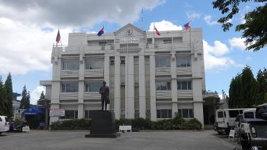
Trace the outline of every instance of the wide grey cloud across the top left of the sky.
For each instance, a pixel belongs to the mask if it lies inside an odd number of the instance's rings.
[[[152,10],[164,0],[0,1],[0,16],[20,22],[57,26],[92,26],[96,22],[124,25],[140,17],[141,8]]]

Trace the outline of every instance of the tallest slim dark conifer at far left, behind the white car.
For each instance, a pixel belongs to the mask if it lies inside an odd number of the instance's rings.
[[[6,88],[6,115],[8,117],[13,116],[13,88],[12,88],[12,79],[11,74],[8,74],[5,82]]]

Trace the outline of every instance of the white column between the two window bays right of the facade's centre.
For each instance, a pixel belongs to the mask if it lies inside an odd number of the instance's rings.
[[[172,55],[170,56],[170,74],[172,74],[172,117],[175,117],[175,113],[178,112],[177,106],[177,67],[176,67],[176,57],[175,51],[172,51]]]

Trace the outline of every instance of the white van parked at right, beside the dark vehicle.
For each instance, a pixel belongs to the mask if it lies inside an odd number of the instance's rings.
[[[234,129],[236,116],[243,114],[243,110],[245,110],[245,108],[216,110],[216,124],[214,130],[219,134],[228,134],[231,129]]]

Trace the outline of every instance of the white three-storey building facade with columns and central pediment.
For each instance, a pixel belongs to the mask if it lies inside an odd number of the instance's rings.
[[[202,124],[205,88],[202,29],[142,31],[132,24],[102,36],[70,33],[67,47],[54,46],[45,98],[65,117],[89,118],[100,110],[99,88],[110,88],[115,118],[197,118]]]

